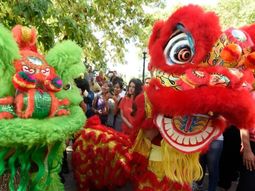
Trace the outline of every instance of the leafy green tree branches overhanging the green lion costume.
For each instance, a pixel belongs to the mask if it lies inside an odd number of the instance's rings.
[[[151,17],[143,6],[157,0],[2,0],[0,19],[8,28],[35,26],[45,51],[57,40],[74,40],[88,61],[105,67],[107,59],[123,61],[124,45],[144,46]],[[109,48],[110,47],[110,48]]]

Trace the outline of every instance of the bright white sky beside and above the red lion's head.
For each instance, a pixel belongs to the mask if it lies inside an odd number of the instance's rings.
[[[171,7],[176,4],[198,4],[198,5],[216,5],[219,0],[166,0],[166,10],[171,10]],[[157,10],[158,11],[158,10]],[[160,10],[159,10],[160,11]],[[127,45],[127,53],[125,55],[125,64],[116,64],[109,65],[108,68],[110,70],[116,70],[118,73],[121,73],[124,79],[128,82],[133,77],[141,77],[142,76],[142,67],[143,67],[143,58],[139,58],[137,52],[139,50],[134,47],[132,44]],[[146,68],[145,71],[148,75],[147,71],[147,63],[148,63],[148,55],[146,59]]]

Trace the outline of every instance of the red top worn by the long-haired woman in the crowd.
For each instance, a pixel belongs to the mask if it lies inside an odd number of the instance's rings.
[[[129,121],[129,123],[131,123],[132,125],[134,125],[134,117],[131,116],[131,112],[132,112],[132,105],[133,105],[133,99],[129,98],[127,96],[125,96],[124,98],[122,98],[119,108],[122,112],[122,115]],[[129,128],[124,121],[122,122],[122,131],[123,133],[127,134],[127,135],[131,135],[134,131],[134,129]]]

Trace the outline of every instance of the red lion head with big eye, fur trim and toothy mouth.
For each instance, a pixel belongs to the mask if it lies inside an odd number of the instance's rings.
[[[249,35],[254,28],[222,32],[213,12],[194,5],[155,23],[149,41],[155,77],[145,94],[170,145],[192,153],[206,148],[226,124],[254,127],[255,54]]]

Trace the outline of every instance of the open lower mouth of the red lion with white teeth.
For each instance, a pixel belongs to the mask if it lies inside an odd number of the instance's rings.
[[[210,116],[207,115],[172,118],[158,115],[155,122],[162,137],[184,153],[202,150],[221,133],[220,128],[212,127]]]

